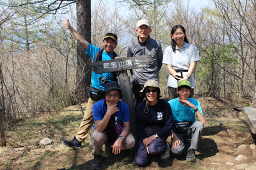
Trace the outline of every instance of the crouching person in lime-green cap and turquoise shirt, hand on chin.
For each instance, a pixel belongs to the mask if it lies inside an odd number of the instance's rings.
[[[198,148],[206,120],[200,103],[189,97],[191,85],[188,80],[179,81],[177,93],[179,94],[178,98],[168,101],[173,115],[171,152],[180,155],[185,149],[184,140],[191,138],[186,160],[196,162],[195,150]],[[199,121],[196,121],[195,115]]]

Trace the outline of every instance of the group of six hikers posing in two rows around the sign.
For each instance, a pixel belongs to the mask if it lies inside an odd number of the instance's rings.
[[[88,43],[73,29],[67,19],[63,20],[63,25],[84,46],[86,54],[90,55],[93,62],[119,57],[114,52],[118,43],[116,34],[106,33],[101,49]],[[138,38],[127,50],[127,57],[152,56],[152,61],[147,67],[130,70],[136,108],[136,130],[140,136],[134,163],[145,166],[148,154],[161,154],[162,160],[169,159],[170,151],[180,155],[185,149],[184,143],[189,142],[189,139],[191,145],[186,160],[195,162],[195,150],[206,122],[200,103],[192,98],[195,89],[193,71],[200,57],[196,47],[188,43],[182,25],[172,28],[172,42],[163,56],[159,41],[150,38],[150,26],[149,20],[142,19],[137,22]],[[170,99],[168,103],[159,99],[159,71],[162,64],[167,64],[170,72],[167,84]],[[116,82],[116,74],[92,72],[91,83],[86,89],[90,98],[77,134],[72,141],[63,141],[63,144],[71,148],[81,148],[81,143],[95,124],[92,134],[92,168],[99,169],[103,145],[106,146],[109,157],[115,157],[121,150],[133,148],[136,141],[130,132],[129,107],[120,101],[122,90]],[[196,116],[199,121],[196,121]],[[172,136],[171,145],[166,141],[168,136]]]

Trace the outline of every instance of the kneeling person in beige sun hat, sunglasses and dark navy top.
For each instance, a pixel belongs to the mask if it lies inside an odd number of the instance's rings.
[[[136,108],[136,127],[140,140],[134,163],[145,166],[148,154],[161,154],[161,159],[170,157],[170,144],[166,141],[172,131],[172,110],[170,104],[160,97],[159,83],[148,80],[140,91],[145,101]]]

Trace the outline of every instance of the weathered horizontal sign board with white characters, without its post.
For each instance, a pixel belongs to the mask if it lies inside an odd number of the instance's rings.
[[[114,60],[104,60],[90,62],[89,67],[97,74],[114,71],[124,71],[127,69],[137,69],[147,67],[152,61],[151,55],[141,55],[137,57],[119,58]]]

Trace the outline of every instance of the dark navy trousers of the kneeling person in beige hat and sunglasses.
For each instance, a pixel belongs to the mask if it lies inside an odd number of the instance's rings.
[[[150,143],[148,146],[148,151],[152,155],[157,155],[163,153],[167,148],[166,138],[157,138]],[[138,142],[137,150],[135,153],[135,158],[133,159],[134,163],[137,166],[145,166],[148,162],[148,152],[146,146],[143,144],[143,141]]]

